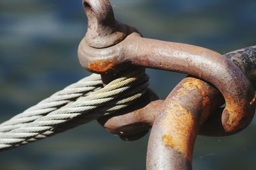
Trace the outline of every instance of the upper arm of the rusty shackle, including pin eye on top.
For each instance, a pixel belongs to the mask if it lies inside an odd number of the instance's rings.
[[[126,25],[123,25],[127,28],[127,36],[122,36],[124,40],[120,41],[122,38],[119,36],[108,38],[105,35],[118,35],[122,32],[115,28],[120,23],[115,22],[109,1],[84,2],[85,12],[89,17],[88,33],[78,50],[79,61],[84,68],[104,73],[116,65],[131,63],[136,66],[188,73],[211,82],[221,91],[226,102],[221,118],[226,132],[237,132],[252,120],[255,107],[254,102],[250,104],[254,98],[252,84],[230,60],[217,52],[195,45],[142,38],[136,29]],[[90,40],[102,41],[107,45],[93,46]]]

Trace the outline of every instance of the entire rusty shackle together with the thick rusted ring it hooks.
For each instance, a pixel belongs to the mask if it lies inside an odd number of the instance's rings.
[[[132,107],[98,119],[124,140],[152,127],[147,169],[192,169],[196,135],[231,135],[255,112],[256,47],[225,54],[203,47],[143,38],[115,20],[108,0],[83,0],[88,31],[78,49],[81,65],[104,84],[129,66],[187,73],[165,100],[148,89]],[[222,104],[225,108],[220,108]]]

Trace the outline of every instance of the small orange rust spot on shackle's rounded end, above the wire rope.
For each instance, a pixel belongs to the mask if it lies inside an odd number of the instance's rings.
[[[102,59],[99,61],[93,61],[92,63],[89,63],[88,68],[95,72],[106,72],[110,68],[113,68],[113,66],[115,65],[116,65],[116,61],[112,61],[109,59]]]

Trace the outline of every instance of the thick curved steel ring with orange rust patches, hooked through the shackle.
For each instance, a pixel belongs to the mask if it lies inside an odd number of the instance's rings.
[[[255,73],[252,65],[256,61],[255,47],[226,56],[237,61],[236,64],[244,68],[248,77]],[[148,141],[147,169],[192,169],[193,147],[200,128],[205,130],[208,126],[210,129],[206,134],[214,128],[225,134],[224,130],[216,127],[220,123],[202,127],[211,112],[223,102],[220,93],[210,84],[192,77],[182,80],[164,100],[163,108],[154,121]],[[218,118],[220,114],[215,115]]]

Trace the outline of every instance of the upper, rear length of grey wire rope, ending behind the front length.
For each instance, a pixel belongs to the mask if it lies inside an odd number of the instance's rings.
[[[85,77],[84,79],[67,86],[67,88],[54,93],[51,97],[45,98],[38,104],[29,107],[26,111],[13,116],[10,120],[1,123],[0,132],[8,132],[15,128],[19,128],[26,123],[35,121],[49,112],[55,111],[63,105],[77,100],[77,98],[82,97],[99,87],[102,87],[100,75],[92,74]]]

